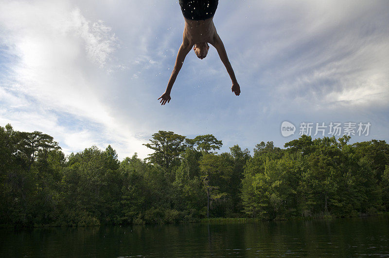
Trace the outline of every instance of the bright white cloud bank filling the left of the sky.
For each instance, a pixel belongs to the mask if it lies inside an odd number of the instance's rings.
[[[110,113],[106,96],[106,69],[118,39],[103,21],[90,21],[65,1],[14,1],[0,4],[1,45],[6,55],[17,56],[0,87],[1,120],[19,130],[42,130],[65,149],[79,151],[96,144],[118,145],[119,155],[138,151],[140,140]],[[11,78],[11,79],[10,79]],[[61,125],[58,116],[71,114],[83,120],[81,131]],[[98,123],[99,131],[88,129]],[[85,129],[86,128],[86,129]],[[113,144],[114,145],[114,144]]]

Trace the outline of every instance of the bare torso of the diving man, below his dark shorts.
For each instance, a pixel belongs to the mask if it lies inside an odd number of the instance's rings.
[[[183,42],[193,46],[196,43],[213,43],[216,28],[213,24],[213,17],[206,20],[185,19]]]

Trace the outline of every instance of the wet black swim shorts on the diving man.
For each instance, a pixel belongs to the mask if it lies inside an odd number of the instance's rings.
[[[179,0],[182,14],[188,20],[206,20],[215,14],[218,0]]]

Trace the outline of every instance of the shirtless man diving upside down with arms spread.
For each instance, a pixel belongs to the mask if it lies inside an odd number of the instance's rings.
[[[217,50],[221,61],[230,75],[232,81],[231,90],[236,96],[239,96],[239,84],[236,81],[234,71],[228,60],[223,41],[217,34],[215,25],[213,24],[213,15],[215,14],[217,4],[218,0],[179,0],[179,5],[181,6],[181,11],[185,19],[184,33],[182,36],[182,44],[177,53],[176,64],[170,75],[166,91],[158,98],[158,100],[161,99],[159,102],[161,105],[170,102],[170,91],[184,63],[185,56],[191,51],[192,46],[197,57],[203,59],[207,56],[210,48],[208,43]]]

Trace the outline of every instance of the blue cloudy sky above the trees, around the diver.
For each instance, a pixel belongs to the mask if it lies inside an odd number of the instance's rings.
[[[161,106],[184,28],[176,0],[0,0],[0,126],[49,134],[65,154],[110,144],[119,159],[145,158],[159,130],[213,134],[219,153],[283,147],[304,123],[313,138],[333,122],[355,127],[351,142],[389,141],[389,1],[220,0],[213,22],[240,96],[211,46],[187,55]]]

